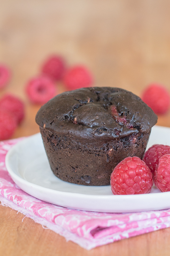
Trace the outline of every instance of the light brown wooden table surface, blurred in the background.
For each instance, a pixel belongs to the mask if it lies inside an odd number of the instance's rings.
[[[13,138],[39,131],[40,106],[24,92],[50,53],[68,66],[83,63],[95,85],[117,86],[141,95],[151,82],[170,91],[170,1],[168,0],[0,0],[0,62],[13,77],[0,96],[11,92],[26,104],[26,118]],[[65,90],[58,84],[59,92]],[[158,117],[170,126],[170,112]],[[0,255],[77,256],[170,255],[170,228],[86,251],[11,208],[0,206]]]

